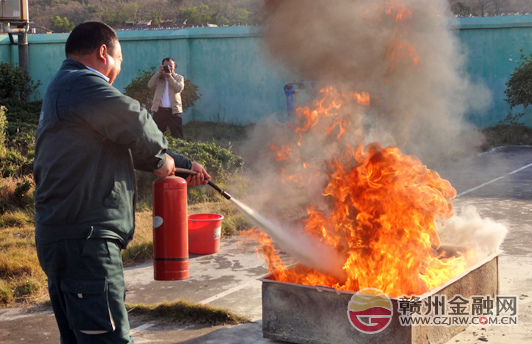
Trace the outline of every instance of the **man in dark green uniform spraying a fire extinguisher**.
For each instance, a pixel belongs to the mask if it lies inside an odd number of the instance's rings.
[[[159,177],[200,164],[167,154],[140,104],[111,86],[122,51],[107,25],[78,25],[42,105],[34,161],[35,242],[62,344],[132,343],[121,249],[135,228],[133,166]]]

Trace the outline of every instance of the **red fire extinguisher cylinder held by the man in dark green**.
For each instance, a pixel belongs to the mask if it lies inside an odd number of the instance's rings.
[[[153,182],[153,268],[155,280],[188,279],[187,183],[180,177]]]

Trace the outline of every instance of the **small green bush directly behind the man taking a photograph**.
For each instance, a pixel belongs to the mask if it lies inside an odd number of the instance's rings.
[[[155,93],[155,90],[148,88],[148,81],[150,81],[156,70],[157,67],[151,67],[148,70],[139,70],[135,79],[124,88],[124,94],[126,96],[138,100],[148,111],[151,109],[153,94]],[[185,88],[181,92],[183,112],[193,106],[200,97],[201,94],[198,93],[198,86],[191,83],[190,80],[185,80]]]

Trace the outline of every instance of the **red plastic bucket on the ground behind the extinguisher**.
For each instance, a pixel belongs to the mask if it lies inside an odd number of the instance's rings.
[[[211,254],[220,249],[223,215],[193,214],[188,216],[188,251]]]

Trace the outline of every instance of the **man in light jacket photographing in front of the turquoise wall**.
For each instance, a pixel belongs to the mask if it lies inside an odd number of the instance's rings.
[[[183,138],[183,118],[181,113],[181,91],[185,87],[185,79],[174,72],[175,61],[166,57],[157,72],[148,81],[149,88],[155,88],[151,111],[157,127],[163,133],[170,128],[173,137]]]

